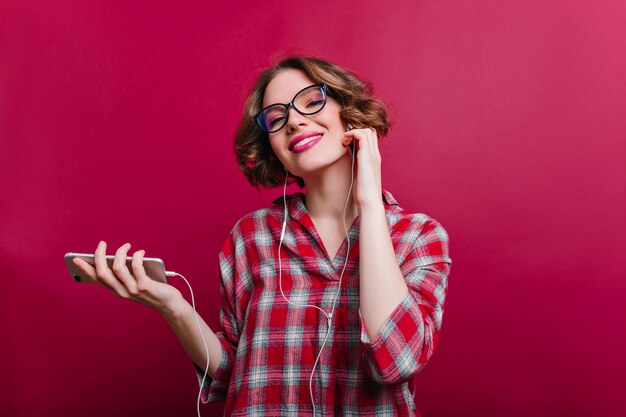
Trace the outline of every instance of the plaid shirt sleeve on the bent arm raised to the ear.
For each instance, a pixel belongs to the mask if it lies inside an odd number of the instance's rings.
[[[441,329],[452,264],[448,252],[445,229],[426,217],[412,250],[399,260],[409,293],[383,323],[376,339],[370,340],[361,319],[363,367],[376,382],[407,381],[432,356]]]

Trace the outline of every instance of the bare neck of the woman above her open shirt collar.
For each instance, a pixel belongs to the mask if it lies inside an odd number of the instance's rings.
[[[336,219],[343,221],[343,211],[346,206],[346,197],[350,190],[350,171],[352,170],[352,155],[346,152],[346,157],[324,169],[322,173],[304,179],[306,184],[305,206],[309,215],[314,219]],[[354,173],[356,177],[356,173]],[[354,202],[354,185],[346,207],[348,224],[358,216],[358,207]]]

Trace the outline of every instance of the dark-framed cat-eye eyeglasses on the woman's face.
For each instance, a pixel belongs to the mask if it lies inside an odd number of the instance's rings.
[[[261,129],[267,133],[278,132],[287,124],[289,118],[289,108],[303,116],[311,116],[320,112],[326,105],[326,84],[318,83],[303,88],[298,91],[290,103],[270,104],[254,116]]]

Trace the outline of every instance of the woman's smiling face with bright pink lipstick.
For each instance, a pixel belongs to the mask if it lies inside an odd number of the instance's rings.
[[[265,89],[263,107],[274,103],[289,103],[303,88],[315,82],[299,70],[287,69],[276,75]],[[274,153],[293,175],[308,177],[320,175],[348,155],[341,141],[346,131],[339,111],[341,106],[327,96],[326,105],[316,114],[304,116],[289,109],[285,126],[269,133]]]

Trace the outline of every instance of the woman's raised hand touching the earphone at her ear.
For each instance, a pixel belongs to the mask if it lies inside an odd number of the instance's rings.
[[[353,196],[359,209],[382,205],[381,157],[378,135],[371,128],[353,129],[345,133],[343,146],[356,146]]]

